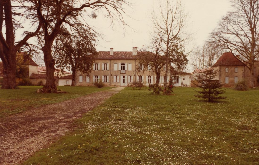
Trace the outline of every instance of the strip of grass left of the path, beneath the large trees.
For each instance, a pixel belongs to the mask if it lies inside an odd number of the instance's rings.
[[[42,86],[19,86],[20,89],[0,89],[0,118],[26,111],[30,108],[53,104],[74,99],[93,92],[103,91],[112,87],[71,87],[61,86],[62,91],[69,93],[36,93]]]

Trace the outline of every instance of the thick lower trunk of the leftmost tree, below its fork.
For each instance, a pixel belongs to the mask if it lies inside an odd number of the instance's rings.
[[[10,53],[10,58],[8,59],[8,64],[3,63],[4,70],[4,79],[2,89],[15,89],[17,88],[16,85],[16,52]]]

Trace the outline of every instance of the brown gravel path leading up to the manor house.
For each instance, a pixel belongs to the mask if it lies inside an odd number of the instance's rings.
[[[0,121],[0,164],[18,164],[73,130],[75,119],[124,87],[30,109]]]

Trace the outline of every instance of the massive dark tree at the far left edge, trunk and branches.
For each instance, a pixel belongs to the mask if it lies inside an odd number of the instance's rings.
[[[15,5],[11,5],[11,2],[15,3]],[[4,89],[17,88],[15,80],[16,53],[22,46],[27,44],[26,42],[29,38],[35,36],[40,31],[40,26],[33,32],[24,31],[23,34],[25,36],[20,41],[15,41],[15,31],[23,28],[22,23],[24,19],[31,18],[32,12],[28,10],[31,8],[30,4],[25,5],[23,1],[0,1],[0,58],[3,61],[4,67],[2,85]],[[37,25],[37,22],[31,22],[31,25]],[[3,32],[4,29],[5,32]]]

